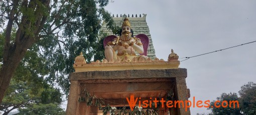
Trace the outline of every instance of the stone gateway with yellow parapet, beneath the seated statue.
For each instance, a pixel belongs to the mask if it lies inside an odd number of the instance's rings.
[[[190,97],[186,85],[187,69],[179,68],[179,64],[178,55],[173,50],[168,61],[135,58],[130,62],[108,62],[104,59],[86,63],[81,53],[73,65],[75,72],[70,74],[66,114],[96,115],[103,114],[104,111],[110,114],[110,108],[116,110],[116,113],[123,108],[130,111],[132,97],[138,97],[138,101],[134,103],[134,111],[139,110],[139,101],[142,104],[140,111],[147,112],[153,108],[149,106],[150,102],[146,106],[143,101],[153,102],[155,98],[163,98],[166,102],[163,102],[164,107],[160,104],[156,110],[158,114],[190,114],[185,103],[167,105],[167,101],[185,102]]]

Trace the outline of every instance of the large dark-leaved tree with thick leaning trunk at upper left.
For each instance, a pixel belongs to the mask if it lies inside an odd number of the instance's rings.
[[[5,28],[4,49],[0,55],[0,103],[15,70],[28,50],[42,57],[48,83],[69,91],[68,73],[76,55],[83,51],[87,61],[97,51],[98,30],[104,19],[117,30],[110,14],[103,8],[108,0],[2,0],[0,26]],[[12,30],[15,31],[12,38]],[[100,56],[99,56],[100,57]],[[30,59],[30,57],[28,57]],[[26,64],[26,63],[25,63]],[[43,70],[43,69],[42,69]],[[37,71],[37,69],[33,69]],[[36,73],[36,72],[33,72]]]

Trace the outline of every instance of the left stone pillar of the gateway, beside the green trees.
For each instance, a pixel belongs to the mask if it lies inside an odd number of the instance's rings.
[[[70,91],[68,95],[68,104],[67,104],[67,110],[66,114],[67,115],[73,115],[73,114],[78,114],[77,109],[79,108],[79,103],[78,103],[78,94],[80,90],[79,82],[78,80],[71,80],[70,81]]]

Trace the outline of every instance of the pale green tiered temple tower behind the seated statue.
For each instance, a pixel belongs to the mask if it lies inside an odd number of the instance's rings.
[[[148,35],[149,37],[149,47],[148,47],[148,54],[147,56],[148,57],[151,57],[152,59],[156,58],[156,51],[155,51],[155,48],[154,48],[154,45],[153,45],[153,41],[152,41],[152,38],[151,38],[151,34],[150,34],[150,29],[149,29],[149,26],[148,26],[148,23],[146,21],[146,16],[147,14],[120,14],[118,16],[118,14],[116,14],[116,16],[112,16],[114,22],[116,25],[118,26],[121,26],[122,25],[122,22],[123,22],[123,19],[125,17],[129,18],[130,22],[131,22],[131,28],[134,30],[134,36],[138,35],[138,34],[146,34]],[[109,35],[113,34],[111,30],[107,29],[107,26],[106,26],[106,22],[103,22],[102,23],[102,28],[101,30],[103,32],[106,32],[108,33]],[[137,53],[137,55],[139,55],[139,53]]]

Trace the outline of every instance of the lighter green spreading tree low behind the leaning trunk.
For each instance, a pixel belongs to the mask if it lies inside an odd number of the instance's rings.
[[[37,114],[36,111],[41,114],[49,114],[50,111],[54,114],[64,114],[60,107],[62,102],[60,91],[49,84],[37,85],[12,79],[1,103],[0,110],[4,111],[3,114],[8,114],[16,108],[19,108],[22,114]]]

